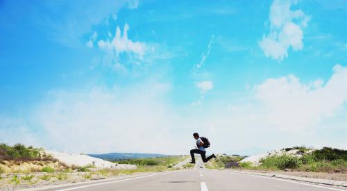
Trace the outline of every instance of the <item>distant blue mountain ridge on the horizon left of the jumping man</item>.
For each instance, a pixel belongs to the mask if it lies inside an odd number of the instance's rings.
[[[167,156],[164,154],[153,153],[104,153],[104,154],[87,154],[95,158],[101,158],[103,160],[124,160],[129,158],[153,158],[160,156]]]

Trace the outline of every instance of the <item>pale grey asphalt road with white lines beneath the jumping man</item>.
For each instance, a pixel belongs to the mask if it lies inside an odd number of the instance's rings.
[[[328,185],[203,169],[199,165],[201,163],[198,163],[194,169],[184,171],[147,174],[102,183],[70,185],[49,190],[347,190],[346,188]]]

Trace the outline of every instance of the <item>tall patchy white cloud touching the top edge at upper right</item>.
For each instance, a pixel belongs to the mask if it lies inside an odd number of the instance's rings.
[[[288,56],[288,49],[303,49],[303,28],[310,17],[301,10],[291,10],[296,1],[273,1],[270,8],[270,33],[263,35],[259,42],[266,57],[283,60]]]

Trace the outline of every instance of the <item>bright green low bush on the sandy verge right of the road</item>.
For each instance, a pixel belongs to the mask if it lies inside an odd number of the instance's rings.
[[[268,156],[260,160],[262,167],[269,169],[295,169],[302,165],[300,158],[289,155]]]

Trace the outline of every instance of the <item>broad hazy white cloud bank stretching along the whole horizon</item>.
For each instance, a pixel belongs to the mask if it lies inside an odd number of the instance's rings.
[[[197,131],[208,136],[208,151],[216,153],[230,153],[225,140],[234,150],[301,144],[346,149],[346,73],[346,67],[335,65],[325,82],[269,78],[247,90],[242,101],[219,99],[200,108],[170,105],[170,84],[155,79],[128,88],[53,91],[22,115],[26,119],[0,115],[0,142],[77,153],[183,154],[194,147]],[[201,88],[212,90],[213,84]]]

